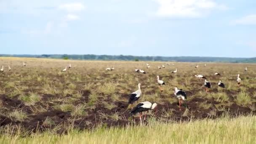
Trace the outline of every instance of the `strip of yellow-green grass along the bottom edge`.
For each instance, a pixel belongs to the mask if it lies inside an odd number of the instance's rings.
[[[70,130],[67,135],[50,132],[29,137],[0,136],[0,144],[255,144],[256,116],[217,120],[196,120],[187,123],[157,123],[126,128],[98,128],[95,131]]]

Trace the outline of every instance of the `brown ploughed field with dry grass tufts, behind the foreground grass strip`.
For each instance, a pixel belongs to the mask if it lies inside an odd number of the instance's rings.
[[[23,61],[26,61],[26,67],[23,66]],[[215,119],[227,113],[233,117],[256,112],[255,64],[207,63],[203,67],[205,63],[199,63],[199,68],[196,69],[197,63],[173,63],[175,66],[172,63],[168,66],[167,62],[148,63],[149,69],[146,69],[146,62],[142,61],[0,58],[0,66],[4,65],[5,68],[0,73],[1,133],[67,133],[70,126],[83,130],[99,125],[137,125],[137,115],[129,117],[131,107],[127,102],[129,94],[138,89],[138,83],[142,87],[139,102],[151,101],[158,104],[156,112],[148,112],[144,125],[150,125],[152,121],[167,122],[165,125],[170,126],[170,131],[173,131],[173,125],[180,126],[168,122]],[[72,68],[61,72],[69,64],[72,64]],[[158,69],[157,66],[162,64],[165,64],[165,69]],[[12,68],[11,71],[8,71],[8,65]],[[115,70],[106,71],[106,67],[112,66],[115,66]],[[244,72],[245,67],[248,67],[248,72]],[[178,72],[171,74],[175,68]],[[134,69],[143,69],[147,74],[136,73]],[[219,72],[221,76],[214,76],[215,72]],[[210,92],[205,93],[204,81],[195,77],[198,74],[204,75],[211,82],[213,88]],[[240,87],[236,84],[237,74],[242,79]],[[157,75],[166,83],[162,94],[157,85]],[[219,80],[225,83],[226,89],[218,88]],[[173,94],[175,86],[186,91],[188,97],[181,111],[179,101]],[[243,119],[251,121],[254,125],[252,131],[255,131],[255,117],[239,119],[239,123]],[[199,121],[195,123],[200,125]],[[223,123],[228,122],[224,120]],[[157,127],[165,125],[157,124]],[[192,125],[188,123],[187,126]],[[136,128],[131,131],[135,130]],[[123,129],[114,128],[112,131]],[[99,133],[90,134],[96,138]],[[72,140],[76,142],[79,141],[78,138]],[[66,138],[64,136],[61,139],[65,141]],[[211,138],[209,140],[213,141]]]

